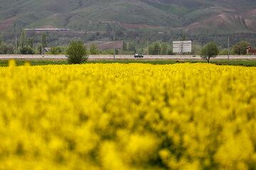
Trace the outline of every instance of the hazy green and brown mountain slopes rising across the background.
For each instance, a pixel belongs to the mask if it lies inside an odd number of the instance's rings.
[[[0,31],[14,23],[81,30],[113,21],[127,28],[178,28],[191,34],[256,31],[255,0],[0,0],[0,4]]]

